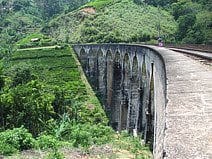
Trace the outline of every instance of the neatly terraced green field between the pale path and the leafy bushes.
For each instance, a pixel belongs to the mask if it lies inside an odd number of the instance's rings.
[[[82,86],[76,82],[81,75],[70,48],[19,50],[13,54],[11,65],[22,63],[32,67],[32,72],[47,84],[65,85],[72,82],[73,85]]]

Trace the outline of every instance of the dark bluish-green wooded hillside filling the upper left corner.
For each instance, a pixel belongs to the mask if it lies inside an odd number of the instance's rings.
[[[0,0],[0,58],[17,41],[39,33],[53,17],[70,12],[87,0]]]

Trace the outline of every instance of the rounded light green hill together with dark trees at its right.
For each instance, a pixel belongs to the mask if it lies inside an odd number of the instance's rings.
[[[191,0],[94,0],[53,19],[42,31],[69,43],[153,42],[211,44],[211,3]],[[82,8],[83,8],[82,7]],[[67,27],[68,26],[68,27]]]

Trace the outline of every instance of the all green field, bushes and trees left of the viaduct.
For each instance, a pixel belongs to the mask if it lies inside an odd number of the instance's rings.
[[[0,155],[40,149],[44,158],[64,158],[63,147],[77,147],[88,155],[90,147],[103,144],[140,154],[133,137],[117,139],[107,126],[108,119],[82,78],[75,56],[69,47],[13,53],[1,73],[5,85],[0,91]],[[131,149],[120,147],[121,142]],[[142,153],[151,158],[143,146]]]

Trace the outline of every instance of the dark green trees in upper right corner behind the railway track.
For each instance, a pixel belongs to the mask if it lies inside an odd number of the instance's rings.
[[[212,44],[212,3],[181,0],[172,4],[172,14],[178,22],[176,40],[192,44]]]

